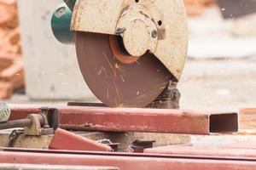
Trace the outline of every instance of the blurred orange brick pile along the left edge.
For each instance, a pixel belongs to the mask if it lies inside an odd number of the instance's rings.
[[[24,88],[16,0],[0,0],[0,99]]]

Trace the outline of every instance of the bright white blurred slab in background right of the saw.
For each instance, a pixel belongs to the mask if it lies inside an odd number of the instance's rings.
[[[189,57],[241,59],[255,56],[255,20],[256,15],[249,19],[224,20],[217,7],[207,9],[201,17],[190,18]]]

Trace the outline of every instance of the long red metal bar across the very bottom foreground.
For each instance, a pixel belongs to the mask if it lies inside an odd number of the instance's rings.
[[[9,151],[8,151],[9,150]],[[175,156],[108,152],[65,152],[47,150],[10,150],[0,152],[0,162],[49,165],[110,166],[119,169],[255,169],[255,157]]]

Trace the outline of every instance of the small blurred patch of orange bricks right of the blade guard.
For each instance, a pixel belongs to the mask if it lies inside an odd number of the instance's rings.
[[[189,16],[199,16],[203,14],[206,8],[217,0],[183,0]]]

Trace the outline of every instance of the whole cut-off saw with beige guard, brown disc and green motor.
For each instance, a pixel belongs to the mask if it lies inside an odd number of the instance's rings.
[[[181,78],[183,0],[65,0],[51,26],[60,42],[74,43],[84,80],[105,105],[144,107]]]

